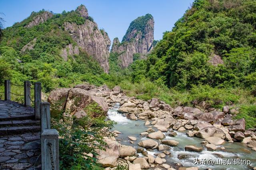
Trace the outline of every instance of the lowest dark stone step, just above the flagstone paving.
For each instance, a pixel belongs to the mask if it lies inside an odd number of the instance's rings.
[[[40,125],[37,126],[14,126],[14,127],[0,127],[0,136],[17,135],[22,133],[35,133],[41,131]]]

